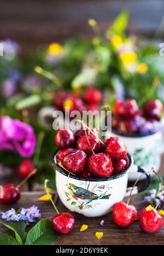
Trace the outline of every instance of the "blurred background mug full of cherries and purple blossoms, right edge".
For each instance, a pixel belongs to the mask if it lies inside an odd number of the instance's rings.
[[[149,100],[142,109],[139,109],[134,99],[118,100],[113,107],[112,136],[124,140],[134,164],[148,170],[154,167],[158,171],[160,168],[162,114],[163,105],[157,99]],[[138,177],[139,174],[133,172],[128,176],[132,181]]]

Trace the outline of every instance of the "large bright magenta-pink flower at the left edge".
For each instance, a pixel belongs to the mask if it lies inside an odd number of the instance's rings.
[[[0,120],[0,150],[18,152],[22,157],[31,157],[36,146],[33,128],[9,116]]]

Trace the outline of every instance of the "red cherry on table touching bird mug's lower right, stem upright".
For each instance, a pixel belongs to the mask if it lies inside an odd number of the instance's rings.
[[[137,209],[125,202],[115,203],[113,207],[113,219],[119,226],[129,226],[137,219]]]

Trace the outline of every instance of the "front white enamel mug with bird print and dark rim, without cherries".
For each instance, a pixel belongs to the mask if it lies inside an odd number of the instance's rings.
[[[112,211],[116,202],[128,196],[132,187],[127,188],[128,173],[133,167],[133,158],[127,155],[128,167],[119,175],[107,178],[87,179],[70,174],[56,164],[56,155],[52,164],[56,169],[56,189],[62,203],[72,212],[86,217],[99,217]],[[147,177],[144,184],[134,187],[132,195],[147,189],[150,175],[147,170],[136,166],[136,172],[144,173]],[[141,175],[141,174],[140,174]]]

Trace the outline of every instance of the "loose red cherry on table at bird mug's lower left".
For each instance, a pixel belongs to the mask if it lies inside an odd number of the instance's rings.
[[[67,235],[74,229],[75,219],[71,213],[60,213],[52,218],[53,229],[61,234]]]

